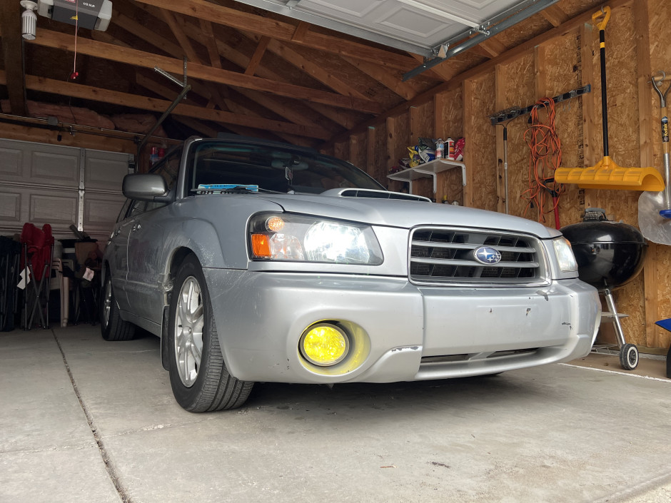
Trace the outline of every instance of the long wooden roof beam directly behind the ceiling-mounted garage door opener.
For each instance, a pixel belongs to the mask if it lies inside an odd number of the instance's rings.
[[[56,31],[38,30],[37,39],[31,44],[39,46],[54,47],[64,51],[74,51],[74,40],[71,36],[60,34]],[[79,39],[77,44],[79,54],[87,54],[102,59],[128,63],[133,66],[143,68],[153,68],[159,66],[165,71],[173,72],[178,75],[183,73],[183,61],[179,61],[166,56],[158,56],[137,49],[128,49],[91,39]],[[201,78],[206,81],[223,83],[228,86],[252,89],[253,91],[265,91],[278,96],[286,96],[306,101],[315,101],[326,105],[340,108],[350,108],[366,113],[380,113],[382,106],[380,103],[370,100],[351,98],[350,96],[341,96],[335,93],[320,91],[318,89],[296,86],[290,83],[270,81],[266,78],[255,77],[237,73],[234,71],[222,70],[205,66],[198,63],[191,63],[188,66],[188,76],[192,78]]]

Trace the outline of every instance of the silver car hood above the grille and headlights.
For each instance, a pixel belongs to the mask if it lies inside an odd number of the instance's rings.
[[[560,235],[558,230],[526,218],[420,200],[344,197],[331,194],[259,194],[259,197],[281,205],[290,213],[306,213],[370,225],[398,228],[413,228],[417,225],[458,225],[517,231],[537,235],[539,238],[554,238]]]

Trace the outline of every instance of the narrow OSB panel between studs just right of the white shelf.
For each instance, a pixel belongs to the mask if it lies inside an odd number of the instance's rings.
[[[470,148],[473,166],[466,166],[473,173],[473,205],[475,208],[496,210],[496,134],[489,116],[494,110],[495,76],[485,73],[473,79],[473,116],[464,118],[473,121],[473,136],[466,138],[465,148]]]

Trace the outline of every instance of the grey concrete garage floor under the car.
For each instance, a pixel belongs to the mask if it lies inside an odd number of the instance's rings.
[[[158,339],[0,334],[1,502],[668,502],[671,381],[547,365],[174,402]],[[88,418],[88,419],[87,419]]]

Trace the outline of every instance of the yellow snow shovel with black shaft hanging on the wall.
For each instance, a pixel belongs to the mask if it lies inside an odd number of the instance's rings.
[[[597,22],[600,17],[603,19]],[[606,95],[605,29],[610,19],[610,7],[592,14],[592,23],[599,29],[601,62],[601,114],[603,124],[603,158],[591,168],[557,168],[556,183],[577,183],[580,188],[618,190],[664,190],[664,179],[655,168],[621,168],[608,156],[608,106]]]

